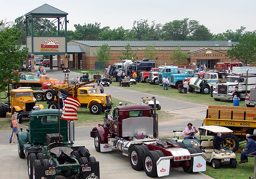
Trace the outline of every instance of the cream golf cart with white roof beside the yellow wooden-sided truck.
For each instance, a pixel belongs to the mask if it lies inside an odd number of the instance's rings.
[[[208,141],[208,139],[201,140],[201,136],[216,136],[218,132],[230,133],[233,132],[229,128],[222,126],[201,126],[199,128],[200,132],[200,149],[206,157],[206,162],[211,163],[213,168],[220,168],[221,165],[229,165],[231,168],[237,166],[235,153],[230,151],[221,152],[221,150],[214,149],[213,140]]]

